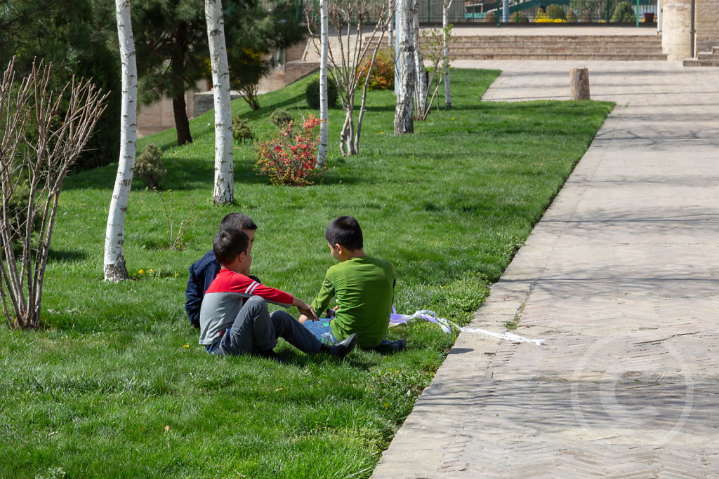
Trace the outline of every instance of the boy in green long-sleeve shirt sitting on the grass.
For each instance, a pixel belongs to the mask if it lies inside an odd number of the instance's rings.
[[[324,232],[327,246],[339,261],[325,274],[322,287],[312,302],[315,311],[324,312],[336,297],[336,316],[329,326],[306,322],[309,330],[321,336],[331,332],[331,340],[343,340],[357,333],[360,348],[377,348],[383,343],[390,322],[390,310],[394,299],[395,268],[382,259],[365,254],[362,228],[352,216],[340,216],[331,220]],[[401,349],[403,340],[395,342],[391,349]]]

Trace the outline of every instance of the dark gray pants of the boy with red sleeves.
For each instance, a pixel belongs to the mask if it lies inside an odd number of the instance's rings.
[[[277,338],[283,338],[298,350],[308,354],[319,352],[322,343],[298,320],[284,311],[267,310],[267,302],[259,296],[247,299],[239,310],[232,327],[212,348],[213,354],[260,353],[275,348]]]

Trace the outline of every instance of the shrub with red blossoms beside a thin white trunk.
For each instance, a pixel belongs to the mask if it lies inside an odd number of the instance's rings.
[[[285,124],[278,134],[255,143],[256,169],[270,178],[273,185],[311,185],[308,178],[315,170],[319,118],[308,116],[303,123]]]

